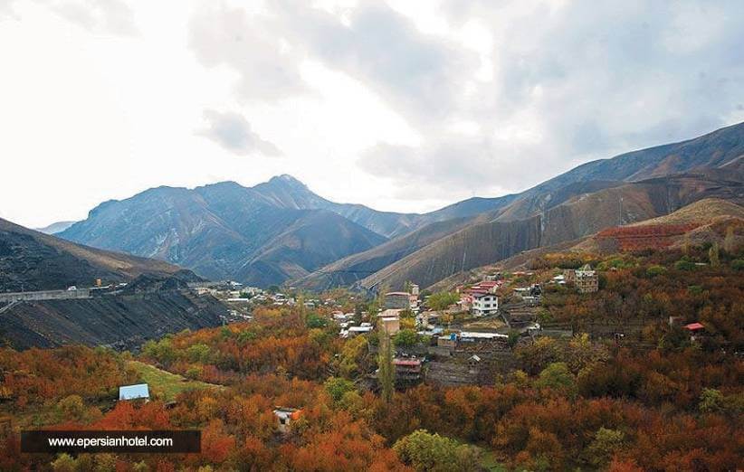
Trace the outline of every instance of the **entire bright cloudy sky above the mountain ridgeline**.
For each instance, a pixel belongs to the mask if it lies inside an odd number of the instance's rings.
[[[744,2],[0,0],[0,217],[290,174],[427,212],[744,121]]]

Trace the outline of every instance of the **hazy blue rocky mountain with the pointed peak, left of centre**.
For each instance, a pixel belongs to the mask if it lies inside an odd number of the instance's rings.
[[[386,241],[334,212],[299,208],[313,195],[292,194],[299,186],[306,188],[279,177],[253,189],[233,182],[158,187],[100,204],[61,236],[262,286]]]

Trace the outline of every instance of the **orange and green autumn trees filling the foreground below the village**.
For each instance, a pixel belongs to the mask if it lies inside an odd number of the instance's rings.
[[[493,385],[396,391],[391,339],[340,339],[322,309],[260,307],[249,323],[150,342],[137,361],[79,346],[0,349],[0,415],[16,431],[203,432],[199,455],[141,457],[21,455],[9,435],[0,470],[735,470],[744,279],[740,253],[697,266],[710,249],[600,260],[615,269],[599,292],[546,290],[541,319],[586,334],[511,335],[518,370]],[[681,260],[694,270],[675,268]],[[691,322],[705,326],[695,341],[681,327]],[[363,387],[376,369],[378,393]],[[116,402],[135,382],[150,383],[154,401]],[[301,411],[287,435],[277,405]]]

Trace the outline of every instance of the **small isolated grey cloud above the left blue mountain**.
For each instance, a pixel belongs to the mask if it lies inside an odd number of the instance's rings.
[[[279,148],[253,132],[251,124],[239,113],[205,109],[204,118],[207,127],[198,134],[238,156],[281,156]]]

